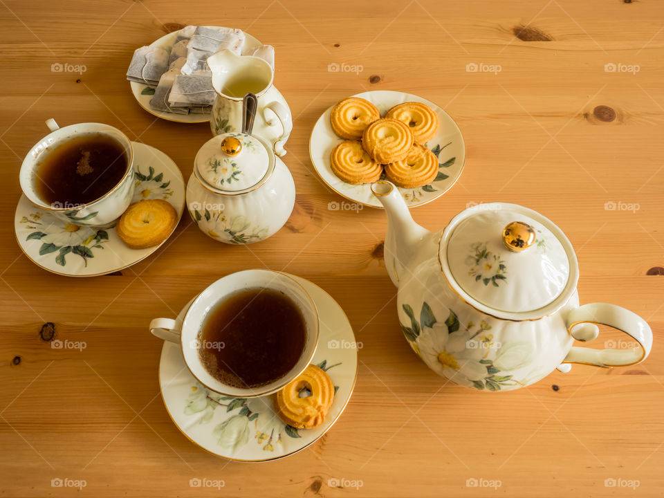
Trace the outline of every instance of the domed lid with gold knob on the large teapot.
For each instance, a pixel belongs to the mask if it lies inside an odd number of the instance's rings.
[[[578,267],[569,239],[544,216],[519,205],[486,203],[463,211],[445,228],[440,251],[452,288],[497,317],[548,315],[576,288]],[[519,317],[508,315],[514,313]]]

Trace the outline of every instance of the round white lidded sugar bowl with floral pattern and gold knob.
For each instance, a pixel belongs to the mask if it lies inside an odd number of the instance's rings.
[[[288,167],[267,142],[223,133],[205,142],[187,183],[187,209],[212,239],[247,244],[284,226],[295,204]]]

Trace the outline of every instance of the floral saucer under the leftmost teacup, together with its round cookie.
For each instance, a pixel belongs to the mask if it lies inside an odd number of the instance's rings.
[[[95,277],[138,263],[171,236],[185,208],[180,169],[154,147],[138,142],[132,147],[133,198],[110,228],[66,223],[21,196],[14,226],[28,259],[57,275]]]

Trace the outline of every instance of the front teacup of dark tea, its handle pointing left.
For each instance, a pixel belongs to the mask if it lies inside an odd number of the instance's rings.
[[[285,273],[246,270],[206,288],[182,322],[156,318],[150,331],[178,342],[193,376],[226,396],[265,396],[302,374],[318,343],[311,297]]]

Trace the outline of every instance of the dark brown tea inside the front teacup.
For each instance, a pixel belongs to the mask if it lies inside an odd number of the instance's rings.
[[[290,297],[252,288],[210,310],[199,335],[199,358],[219,382],[260,387],[295,367],[305,338],[304,317]]]

